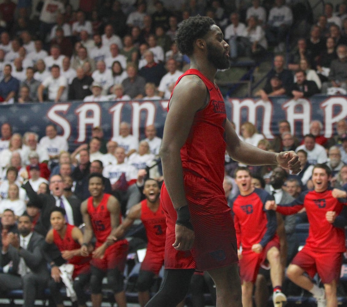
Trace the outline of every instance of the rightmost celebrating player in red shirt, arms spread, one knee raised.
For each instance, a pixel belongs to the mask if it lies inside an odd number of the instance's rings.
[[[292,203],[276,205],[266,202],[265,208],[289,215],[306,208],[310,229],[304,248],[299,251],[287,269],[288,278],[298,286],[310,291],[317,300],[318,307],[337,307],[337,283],[340,278],[342,253],[345,247],[345,229],[334,227],[329,214],[336,215],[346,205],[346,192],[329,189],[331,170],[326,164],[316,164],[312,171],[312,191],[302,192]],[[319,288],[304,275],[311,278],[318,273],[324,284]]]

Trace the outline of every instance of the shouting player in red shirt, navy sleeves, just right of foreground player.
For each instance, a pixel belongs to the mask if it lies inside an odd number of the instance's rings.
[[[237,248],[242,282],[242,304],[253,306],[253,285],[260,265],[267,259],[273,287],[273,305],[282,307],[287,301],[282,293],[283,270],[280,259],[280,240],[276,234],[276,213],[265,210],[265,203],[272,200],[268,192],[252,187],[251,172],[246,167],[235,170],[235,181],[240,193],[232,199]],[[240,252],[242,246],[242,252]]]

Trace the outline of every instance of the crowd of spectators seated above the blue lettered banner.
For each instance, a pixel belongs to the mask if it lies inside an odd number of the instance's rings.
[[[344,3],[337,5],[336,12],[325,3],[323,14],[312,20],[310,33],[298,37],[294,29],[299,17],[293,15],[298,8],[284,0],[274,1],[273,6],[263,3],[264,7],[260,0],[253,0],[249,7],[222,0],[182,0],[179,5],[123,2],[80,3],[76,10],[69,1],[60,0],[2,3],[1,103],[168,99],[177,75],[189,67],[189,59],[177,49],[175,33],[181,20],[196,14],[210,16],[220,26],[232,60],[240,56],[261,59],[270,52],[284,54],[282,67],[275,56],[274,71],[263,92],[255,95],[264,99],[285,94],[298,99],[346,92]],[[305,10],[312,14],[310,8]],[[295,44],[292,48],[288,37]],[[274,90],[270,84],[273,76],[282,82]],[[101,88],[100,94],[93,93],[93,82]],[[149,83],[155,85],[151,95],[145,90]]]

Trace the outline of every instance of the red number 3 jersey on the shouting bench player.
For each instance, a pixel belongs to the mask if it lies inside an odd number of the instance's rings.
[[[146,229],[147,249],[163,249],[166,239],[166,222],[161,204],[159,204],[158,210],[153,212],[147,206],[147,200],[144,199],[141,202],[141,220]]]

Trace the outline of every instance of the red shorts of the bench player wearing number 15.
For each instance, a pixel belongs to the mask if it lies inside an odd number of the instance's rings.
[[[102,243],[96,242],[95,248],[101,245]],[[101,259],[93,258],[90,264],[103,271],[118,268],[120,272],[123,272],[128,255],[128,248],[129,243],[127,240],[117,241],[105,250],[105,254]]]

